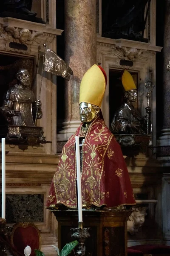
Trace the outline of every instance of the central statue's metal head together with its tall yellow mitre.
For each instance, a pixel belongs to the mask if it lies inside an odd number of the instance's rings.
[[[83,76],[79,97],[81,122],[92,122],[99,115],[106,84],[107,76],[105,70],[96,64]]]

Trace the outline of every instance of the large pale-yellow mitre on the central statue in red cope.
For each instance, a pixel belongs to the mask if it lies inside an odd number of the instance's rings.
[[[94,64],[82,78],[79,103],[86,102],[101,107],[106,81],[105,70]]]

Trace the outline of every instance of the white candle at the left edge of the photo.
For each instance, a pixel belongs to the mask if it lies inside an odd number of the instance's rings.
[[[2,151],[2,218],[5,219],[6,210],[6,166],[5,166],[5,138],[1,141],[1,151]]]

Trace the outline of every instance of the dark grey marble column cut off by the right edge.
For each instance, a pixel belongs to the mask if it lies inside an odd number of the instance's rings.
[[[164,44],[163,44],[163,82],[162,82],[162,129],[157,140],[157,155],[164,160],[165,166],[170,166],[170,0],[164,1]],[[159,100],[159,99],[158,99]]]

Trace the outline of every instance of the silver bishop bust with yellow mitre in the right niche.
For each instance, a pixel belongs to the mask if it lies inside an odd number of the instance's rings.
[[[146,116],[141,117],[134,108],[133,102],[137,97],[136,85],[131,74],[124,70],[122,84],[125,89],[124,103],[118,108],[111,123],[114,134],[150,134],[152,125],[150,120],[151,108],[147,104]]]

